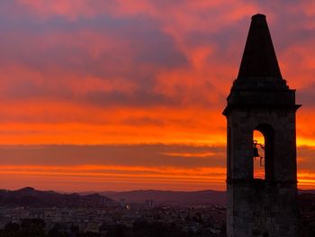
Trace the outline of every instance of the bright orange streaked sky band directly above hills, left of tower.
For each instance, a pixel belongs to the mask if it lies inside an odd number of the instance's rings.
[[[11,179],[13,183],[6,188],[33,185],[43,188],[41,182],[49,183],[50,188],[66,188],[64,190],[126,190],[132,187],[142,187],[146,184],[149,188],[160,188],[161,186],[175,185],[177,190],[198,190],[210,184],[216,184],[220,189],[225,188],[222,180],[225,177],[225,169],[177,169],[177,168],[145,168],[145,167],[30,167],[30,166],[1,166],[0,177],[3,180]],[[40,178],[40,182],[36,181]],[[56,180],[58,186],[51,187],[52,180]],[[11,181],[11,182],[12,182]],[[64,182],[65,186],[60,187],[59,182]],[[73,186],[67,187],[68,182]],[[80,185],[81,183],[81,185]],[[102,185],[100,185],[102,184]],[[112,185],[117,185],[112,188]],[[131,185],[131,186],[130,186]],[[4,187],[5,188],[5,187]],[[47,188],[47,187],[44,187]]]

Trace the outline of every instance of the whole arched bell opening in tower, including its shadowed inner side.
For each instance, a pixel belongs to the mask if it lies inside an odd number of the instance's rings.
[[[274,129],[259,124],[253,132],[253,178],[272,180],[274,178]]]

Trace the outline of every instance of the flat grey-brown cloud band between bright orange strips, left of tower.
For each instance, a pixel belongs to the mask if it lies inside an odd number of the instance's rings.
[[[172,155],[173,153],[176,155]],[[212,155],[200,157],[200,154],[204,153]],[[186,154],[189,156],[187,157]],[[190,145],[2,146],[0,156],[0,165],[115,165],[177,168],[225,165],[224,147]]]

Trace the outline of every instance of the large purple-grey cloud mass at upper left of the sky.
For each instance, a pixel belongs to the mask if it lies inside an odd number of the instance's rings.
[[[6,20],[6,21],[4,21]],[[8,27],[9,25],[9,27]],[[119,61],[132,57],[132,66],[141,63],[157,68],[174,68],[187,65],[184,54],[176,48],[172,36],[162,32],[157,22],[148,16],[130,16],[130,18],[114,18],[110,15],[95,16],[89,19],[79,19],[68,22],[62,18],[52,18],[47,21],[38,21],[36,16],[25,21],[16,16],[14,20],[3,19],[0,23],[2,37],[1,50],[7,59],[14,59],[31,68],[45,69],[57,65],[70,71],[82,71],[106,77],[102,72],[106,68],[106,61],[119,66]],[[82,47],[77,46],[82,32],[94,32],[99,39],[112,40],[112,49],[98,52],[99,57],[92,57],[88,50],[89,42],[84,41]],[[64,41],[64,34],[70,41]],[[81,35],[84,37],[84,34]],[[23,39],[23,43],[21,40]],[[44,40],[54,40],[48,48]],[[116,41],[128,44],[128,50],[123,55],[124,45],[115,45]],[[91,41],[91,45],[95,42]],[[40,47],[41,46],[41,47]],[[85,48],[86,47],[86,48]],[[117,50],[115,53],[114,50]],[[122,50],[122,51],[121,51]],[[128,55],[130,54],[130,55]],[[121,59],[119,59],[119,57]],[[124,59],[125,58],[125,59]],[[74,60],[76,59],[76,60]],[[137,68],[134,68],[137,70]]]

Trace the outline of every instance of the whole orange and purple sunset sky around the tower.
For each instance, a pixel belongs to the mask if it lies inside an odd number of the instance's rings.
[[[225,190],[221,112],[257,13],[315,188],[312,0],[1,0],[0,188]]]

